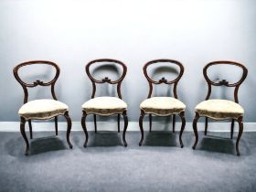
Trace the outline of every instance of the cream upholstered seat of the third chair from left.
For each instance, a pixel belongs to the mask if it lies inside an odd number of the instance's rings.
[[[144,100],[140,105],[145,113],[152,113],[158,116],[167,116],[184,112],[186,105],[173,97],[152,97]]]

